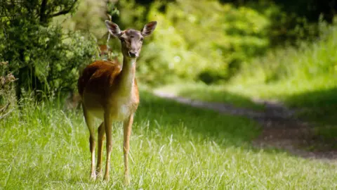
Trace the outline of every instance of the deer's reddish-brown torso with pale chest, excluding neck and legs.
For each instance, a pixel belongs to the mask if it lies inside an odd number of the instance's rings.
[[[95,61],[86,66],[78,81],[83,106],[96,118],[103,119],[110,108],[114,120],[124,120],[136,111],[139,103],[136,79],[131,96],[121,96],[119,82],[121,66],[118,61]]]

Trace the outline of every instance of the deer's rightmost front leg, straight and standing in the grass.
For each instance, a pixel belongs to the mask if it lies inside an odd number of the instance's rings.
[[[131,135],[133,123],[133,114],[129,116],[128,119],[124,120],[124,143],[123,143],[123,152],[124,152],[124,182],[125,184],[130,184],[130,177],[128,175],[128,150],[130,148],[129,141]]]

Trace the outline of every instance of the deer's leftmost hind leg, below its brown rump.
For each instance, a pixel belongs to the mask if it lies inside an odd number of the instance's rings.
[[[90,132],[90,152],[91,152],[91,173],[90,177],[91,179],[96,179],[96,174],[95,174],[95,144],[96,144],[96,139],[95,139],[95,126],[93,116],[88,113],[86,110],[85,106],[83,107],[83,113],[84,113],[84,118],[86,119],[86,125],[88,126],[89,132]]]

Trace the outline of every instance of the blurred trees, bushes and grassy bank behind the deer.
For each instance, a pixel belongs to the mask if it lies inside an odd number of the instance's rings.
[[[336,113],[333,0],[34,0],[0,8],[2,107],[73,97],[79,72],[106,44],[109,14],[122,30],[159,23],[138,58],[143,87],[242,107],[276,100],[308,118]],[[109,46],[121,60],[118,40]]]

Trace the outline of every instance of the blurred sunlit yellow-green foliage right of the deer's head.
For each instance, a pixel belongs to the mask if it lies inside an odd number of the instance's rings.
[[[139,70],[145,81],[167,82],[174,77],[206,84],[227,81],[268,48],[315,39],[321,30],[320,24],[272,1],[237,7],[218,1],[151,6],[148,18],[158,20],[159,25],[153,44],[143,50]]]

